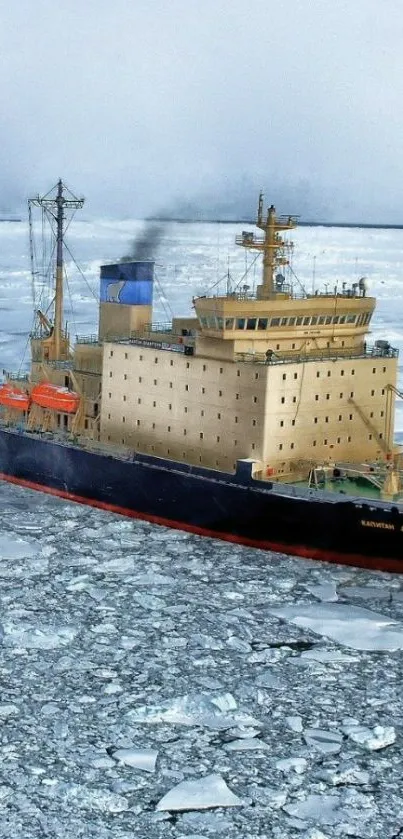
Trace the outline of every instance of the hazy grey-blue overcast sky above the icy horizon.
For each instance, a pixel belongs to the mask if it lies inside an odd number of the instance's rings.
[[[0,208],[402,221],[402,0],[0,0]]]

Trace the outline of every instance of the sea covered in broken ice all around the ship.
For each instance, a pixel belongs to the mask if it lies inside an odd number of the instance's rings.
[[[96,329],[99,263],[139,227],[74,228],[77,332]],[[234,233],[169,228],[157,274],[172,308],[190,312],[228,251],[239,277]],[[313,256],[318,284],[366,274],[380,298],[373,337],[401,346],[403,233],[297,235],[303,281]],[[25,226],[1,225],[0,247],[1,366],[15,369],[30,327]],[[0,837],[399,835],[403,578],[8,484],[0,497]]]

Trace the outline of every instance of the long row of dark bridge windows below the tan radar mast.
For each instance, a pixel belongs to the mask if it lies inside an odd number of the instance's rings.
[[[218,315],[206,315],[200,317],[201,326],[206,329],[249,329],[249,330],[265,330],[270,328],[277,328],[279,326],[330,326],[355,324],[355,326],[365,326],[371,320],[371,313],[365,312],[363,314],[345,314],[345,315],[295,315],[289,318],[270,317],[270,318],[223,318]]]

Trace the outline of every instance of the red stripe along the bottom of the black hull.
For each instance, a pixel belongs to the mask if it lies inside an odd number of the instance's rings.
[[[18,486],[27,487],[28,489],[34,489],[39,492],[46,492],[48,495],[56,495],[58,498],[64,498],[67,501],[75,501],[78,504],[86,504],[89,507],[97,507],[100,510],[107,510],[110,513],[119,513],[121,516],[128,516],[132,519],[149,521],[152,524],[159,524],[163,527],[172,527],[175,530],[185,530],[188,533],[195,533],[198,536],[208,536],[212,539],[222,539],[225,542],[234,542],[238,545],[246,545],[250,548],[260,548],[264,551],[274,551],[276,553],[288,554],[290,556],[301,556],[305,559],[317,559],[322,562],[337,562],[341,565],[353,565],[359,568],[368,568],[371,571],[391,571],[392,573],[403,573],[403,560],[393,559],[391,557],[339,553],[338,551],[328,551],[321,548],[309,548],[305,545],[288,545],[284,542],[272,542],[266,539],[250,539],[247,536],[238,536],[233,533],[221,533],[220,531],[210,530],[207,527],[198,527],[195,524],[186,524],[186,522],[166,519],[163,516],[152,516],[147,513],[137,513],[135,510],[129,510],[127,507],[120,507],[118,504],[108,504],[106,501],[97,501],[96,499],[85,498],[82,495],[74,495],[72,492],[67,492],[62,489],[53,489],[52,487],[47,487],[43,484],[27,481],[24,478],[15,478],[13,475],[6,475],[4,472],[0,472],[0,480],[8,481],[11,484],[18,484]]]

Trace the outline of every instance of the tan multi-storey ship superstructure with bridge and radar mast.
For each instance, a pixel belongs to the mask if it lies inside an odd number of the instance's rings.
[[[100,306],[99,334],[60,363],[34,344],[33,378],[69,384],[79,416],[55,418],[83,438],[233,472],[251,458],[262,478],[298,480],[312,466],[393,456],[397,352],[368,345],[375,299],[364,281],[334,293],[294,294],[274,207],[238,244],[263,253],[256,296],[198,297],[195,316],[165,331],[150,306]]]

